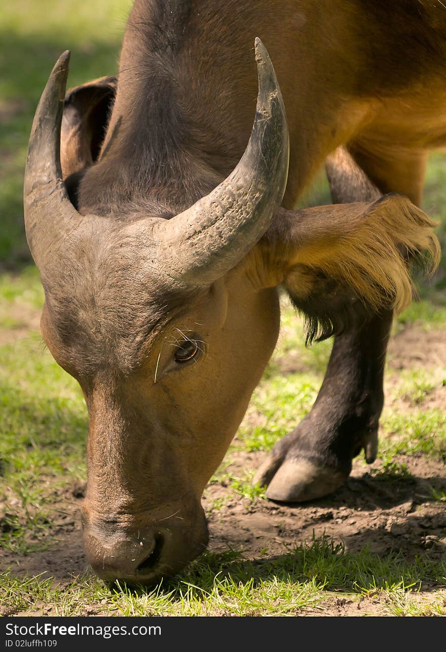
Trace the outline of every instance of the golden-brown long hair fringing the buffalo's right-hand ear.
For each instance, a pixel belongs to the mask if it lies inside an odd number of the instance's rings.
[[[296,228],[297,243],[288,257],[291,269],[286,274],[287,285],[295,265],[303,265],[348,286],[374,312],[383,304],[391,304],[400,312],[411,301],[411,282],[400,246],[412,255],[430,256],[426,259],[429,269],[438,265],[439,244],[432,233],[436,223],[405,198],[387,196],[365,208],[351,203],[316,211],[319,233],[312,224],[309,242],[305,226]]]

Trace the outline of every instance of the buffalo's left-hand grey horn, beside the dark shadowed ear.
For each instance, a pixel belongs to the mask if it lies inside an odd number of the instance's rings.
[[[70,222],[80,218],[62,181],[61,122],[70,52],[55,64],[35,113],[23,187],[25,230],[29,250],[39,269],[66,234]],[[74,225],[73,225],[74,226]]]

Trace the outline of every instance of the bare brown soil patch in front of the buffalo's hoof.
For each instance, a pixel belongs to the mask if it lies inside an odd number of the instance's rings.
[[[241,467],[256,468],[262,454],[241,453],[228,472],[237,475]],[[446,506],[433,501],[431,488],[446,490],[445,467],[434,460],[398,456],[413,477],[392,478],[378,473],[357,459],[348,482],[335,494],[312,503],[282,505],[257,501],[251,507],[246,500],[230,498],[231,491],[219,484],[207,488],[203,504],[212,505],[218,497],[228,497],[226,509],[209,515],[211,548],[243,548],[245,555],[256,557],[267,548],[268,554],[280,554],[299,543],[310,544],[324,534],[346,549],[359,552],[368,547],[385,554],[400,550],[408,559],[425,550],[439,558],[446,552]]]

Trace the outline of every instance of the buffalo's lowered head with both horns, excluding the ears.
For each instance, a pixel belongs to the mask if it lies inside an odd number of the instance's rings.
[[[83,534],[107,579],[151,582],[203,550],[201,493],[275,346],[276,292],[253,292],[237,269],[267,230],[288,171],[284,104],[260,40],[256,57],[245,154],[170,219],[81,215],[69,200],[59,156],[68,52],[35,115],[26,233],[45,289],[44,338],[88,406]]]

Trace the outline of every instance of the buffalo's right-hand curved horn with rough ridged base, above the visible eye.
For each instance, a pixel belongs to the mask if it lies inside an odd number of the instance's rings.
[[[273,64],[256,38],[259,92],[248,147],[209,195],[156,225],[160,256],[182,283],[208,284],[236,265],[265,233],[285,192],[289,139]]]

